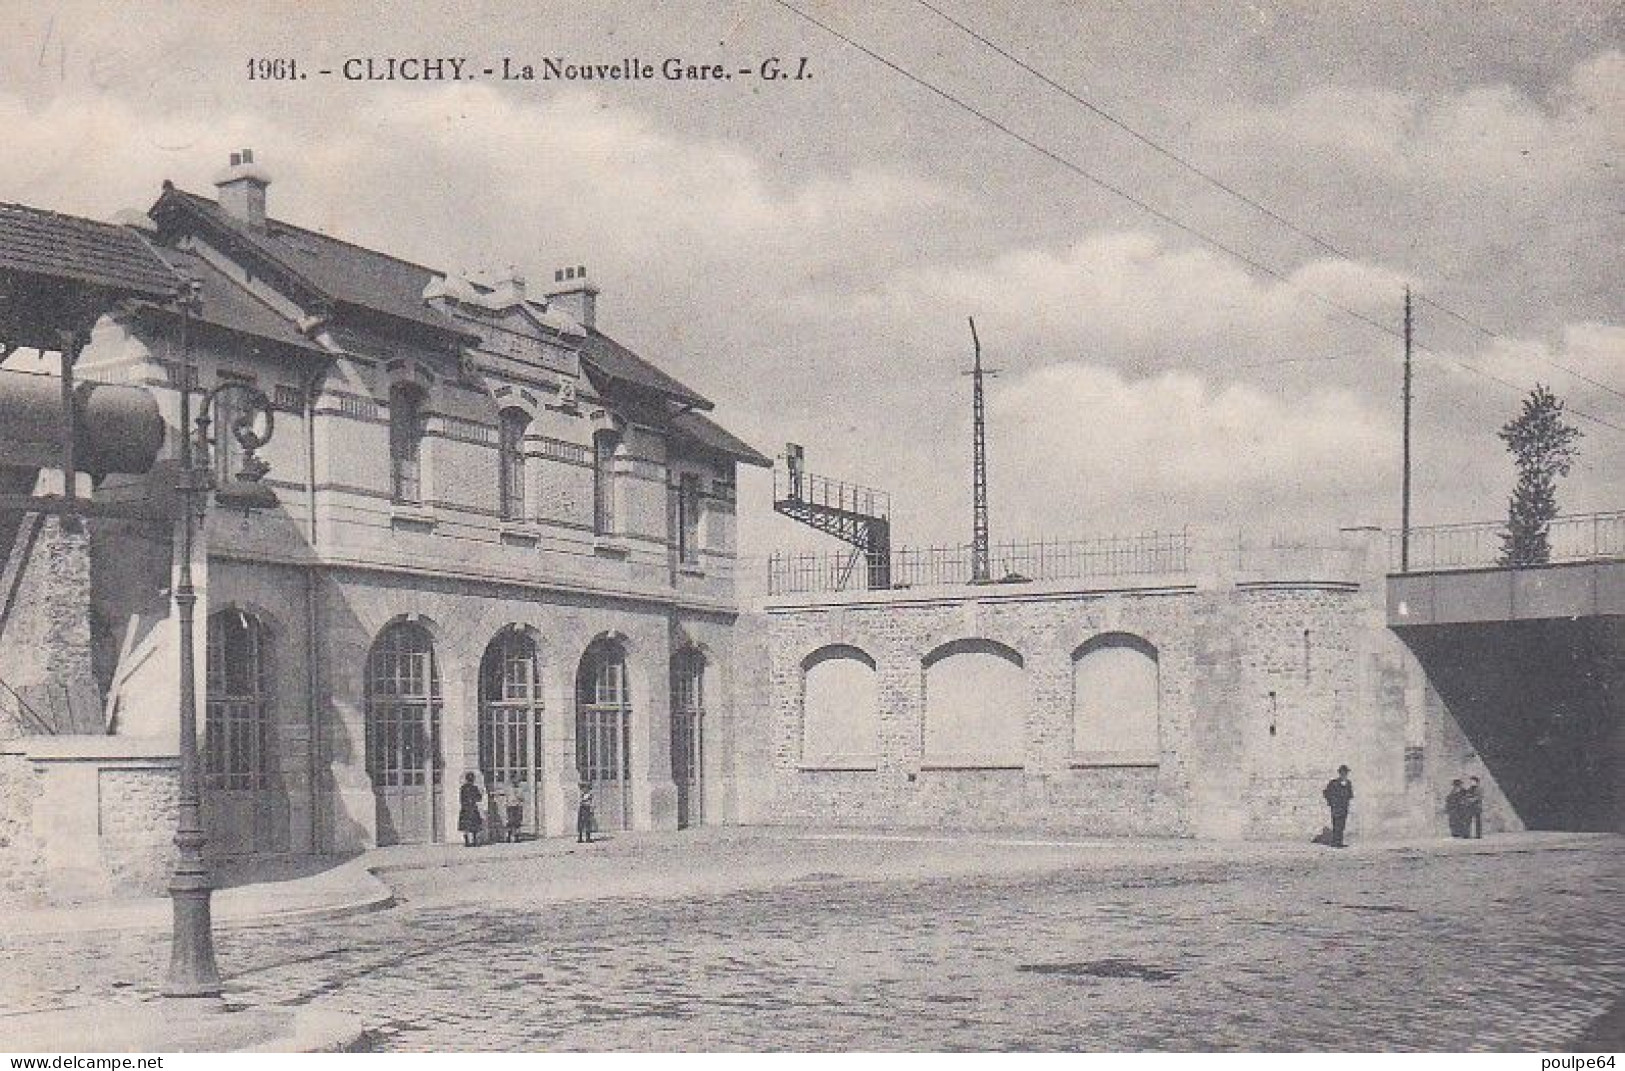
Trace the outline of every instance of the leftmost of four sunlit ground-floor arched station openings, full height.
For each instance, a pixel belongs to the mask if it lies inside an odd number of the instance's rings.
[[[440,673],[434,640],[400,621],[367,655],[367,772],[379,809],[379,843],[437,839]]]

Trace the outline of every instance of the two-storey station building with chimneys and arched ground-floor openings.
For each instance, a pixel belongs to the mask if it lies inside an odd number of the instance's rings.
[[[600,330],[585,268],[546,294],[436,271],[275,219],[268,187],[247,151],[216,198],[166,184],[148,237],[198,306],[130,304],[80,362],[171,424],[101,499],[172,496],[184,377],[273,406],[278,505],[213,509],[195,544],[210,850],[455,839],[466,774],[538,835],[574,827],[582,785],[603,827],[728,821],[734,471],[765,458]],[[223,481],[240,398],[208,414]],[[174,752],[176,546],[141,518],[80,541],[86,661],[125,741],[101,751]]]

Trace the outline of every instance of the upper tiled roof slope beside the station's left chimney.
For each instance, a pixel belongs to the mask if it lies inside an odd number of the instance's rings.
[[[229,231],[237,241],[335,302],[380,312],[439,332],[470,336],[450,317],[422,299],[424,286],[439,275],[437,271],[280,219],[266,219],[265,229],[260,231],[234,219],[206,197],[179,189],[164,192],[153,210],[154,215],[161,211],[167,198],[184,203],[211,226]]]

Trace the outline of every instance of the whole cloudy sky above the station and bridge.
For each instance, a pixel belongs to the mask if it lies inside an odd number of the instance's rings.
[[[351,57],[811,78],[317,73]],[[967,317],[994,541],[1396,527],[1407,284],[1415,523],[1505,515],[1536,382],[1584,432],[1563,510],[1625,509],[1614,3],[0,0],[0,130],[5,202],[110,218],[249,146],[289,223],[587,265],[600,327],[762,452],[889,491],[900,544],[968,541]],[[822,540],[743,473],[743,553]]]

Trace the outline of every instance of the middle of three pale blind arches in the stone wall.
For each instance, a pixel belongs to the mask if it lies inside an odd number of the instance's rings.
[[[993,640],[956,640],[925,658],[926,765],[1019,767],[1032,705],[1020,655]]]

